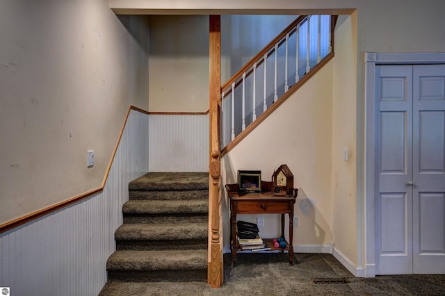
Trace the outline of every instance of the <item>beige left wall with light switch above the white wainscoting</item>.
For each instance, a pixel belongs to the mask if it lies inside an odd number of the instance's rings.
[[[0,224],[101,186],[129,105],[148,107],[147,22],[120,18],[106,0],[0,2]]]

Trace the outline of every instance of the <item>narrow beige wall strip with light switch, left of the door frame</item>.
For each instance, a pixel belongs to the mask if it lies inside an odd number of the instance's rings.
[[[332,232],[335,247],[357,262],[357,13],[339,17],[332,85]],[[348,149],[348,160],[344,149]]]

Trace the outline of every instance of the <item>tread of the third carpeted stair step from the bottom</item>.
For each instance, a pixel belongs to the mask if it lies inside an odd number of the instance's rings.
[[[130,200],[122,207],[124,215],[165,215],[209,213],[209,201],[197,200]]]

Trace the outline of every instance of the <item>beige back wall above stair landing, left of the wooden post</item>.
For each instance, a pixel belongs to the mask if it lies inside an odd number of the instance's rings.
[[[149,17],[149,111],[209,110],[209,17]]]

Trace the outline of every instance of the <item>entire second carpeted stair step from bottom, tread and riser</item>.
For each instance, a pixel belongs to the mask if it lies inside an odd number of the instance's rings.
[[[207,249],[207,223],[122,224],[115,231],[116,249]]]

